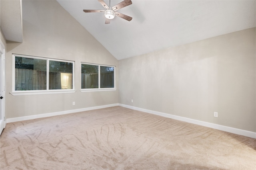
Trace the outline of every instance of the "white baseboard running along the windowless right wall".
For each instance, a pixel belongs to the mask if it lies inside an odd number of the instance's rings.
[[[234,133],[234,134],[237,134],[237,135],[243,135],[243,136],[246,136],[246,137],[251,137],[251,138],[256,139],[256,133],[251,132],[251,131],[236,129],[236,128],[233,128],[233,127],[218,125],[218,124],[214,124],[214,123],[208,123],[208,122],[205,122],[205,121],[199,121],[199,120],[195,120],[195,119],[190,119],[190,118],[186,118],[186,117],[171,115],[171,114],[162,113],[162,112],[158,112],[158,111],[152,111],[152,110],[148,110],[148,109],[142,109],[142,108],[139,108],[139,107],[124,105],[124,104],[119,104],[118,106],[126,107],[126,108],[129,108],[129,109],[134,109],[134,110],[138,110],[138,111],[143,111],[143,112],[146,112],[146,113],[151,113],[151,114],[154,114],[154,115],[160,115],[160,116],[163,116],[163,117],[168,117],[168,118],[171,118],[171,119],[185,121],[185,122],[188,122],[188,123],[193,123],[193,124],[196,124],[196,125],[210,127],[210,128],[213,128],[213,129],[218,129],[218,130],[221,130],[221,131],[230,132],[230,133]]]

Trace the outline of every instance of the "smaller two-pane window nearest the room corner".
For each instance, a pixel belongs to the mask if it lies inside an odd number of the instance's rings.
[[[86,90],[114,89],[115,66],[82,63],[81,88]]]

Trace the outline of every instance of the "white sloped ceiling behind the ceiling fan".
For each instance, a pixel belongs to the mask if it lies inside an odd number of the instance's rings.
[[[132,0],[118,10],[132,21],[115,17],[110,24],[104,13],[83,12],[104,10],[97,0],[57,1],[118,60],[255,27],[256,20],[256,1],[247,0]]]

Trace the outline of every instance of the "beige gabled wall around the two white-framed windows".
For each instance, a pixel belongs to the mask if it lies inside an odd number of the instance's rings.
[[[80,92],[81,62],[118,61],[56,1],[23,1],[23,43],[8,42],[6,117],[22,117],[118,103],[118,90]],[[75,61],[75,93],[12,96],[12,54]],[[116,67],[118,69],[118,67]],[[118,76],[118,72],[116,72]],[[118,79],[116,79],[118,85]],[[76,102],[73,106],[72,102]]]

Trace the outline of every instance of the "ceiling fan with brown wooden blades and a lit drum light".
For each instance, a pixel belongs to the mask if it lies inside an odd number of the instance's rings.
[[[121,14],[119,12],[116,12],[117,10],[124,8],[130,4],[132,4],[131,0],[124,0],[122,2],[120,2],[119,4],[116,4],[115,6],[111,7],[110,6],[110,0],[109,0],[109,6],[104,2],[104,0],[98,0],[100,2],[100,4],[102,4],[102,6],[106,9],[106,10],[83,10],[84,12],[88,13],[88,12],[105,12],[105,23],[108,24],[110,23],[110,20],[112,20],[115,15],[123,18],[124,20],[130,21],[132,20],[132,17]]]

